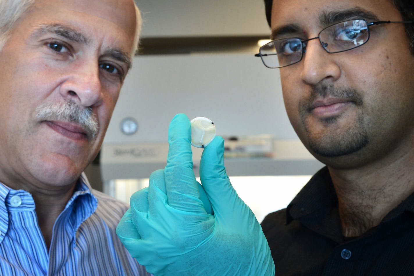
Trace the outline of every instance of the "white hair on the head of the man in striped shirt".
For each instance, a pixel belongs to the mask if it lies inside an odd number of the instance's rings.
[[[24,12],[34,3],[35,0],[0,0],[0,51],[5,45],[10,33],[13,29],[14,23],[19,19]],[[135,55],[140,41],[142,17],[141,12],[135,4],[135,37],[132,45],[131,55]]]

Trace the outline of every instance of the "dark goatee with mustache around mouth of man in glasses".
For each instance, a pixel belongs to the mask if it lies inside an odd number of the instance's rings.
[[[342,114],[328,118],[318,119],[323,128],[314,128],[310,112],[311,105],[318,98],[341,98],[362,106],[362,95],[350,88],[335,89],[332,85],[313,87],[308,99],[299,104],[299,112],[305,129],[305,140],[310,150],[323,157],[339,157],[349,155],[364,148],[369,143],[368,133],[364,125],[362,109],[349,124],[341,124]]]

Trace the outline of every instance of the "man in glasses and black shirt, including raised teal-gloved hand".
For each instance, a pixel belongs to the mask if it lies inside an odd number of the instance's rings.
[[[280,68],[291,124],[327,165],[287,209],[262,222],[276,274],[413,275],[414,4],[265,3],[273,41],[257,56],[265,66]],[[273,274],[251,212],[229,188],[220,138],[205,148],[200,165],[214,214],[203,213],[186,168],[191,167],[187,121],[173,120],[167,167],[153,174],[149,190],[134,195],[118,226],[130,226],[119,232],[135,238],[134,243],[125,238],[125,245],[160,274],[186,264],[193,264],[187,275]],[[170,222],[172,233],[163,221]],[[247,231],[249,226],[254,230]],[[167,245],[149,246],[166,243],[166,236]]]

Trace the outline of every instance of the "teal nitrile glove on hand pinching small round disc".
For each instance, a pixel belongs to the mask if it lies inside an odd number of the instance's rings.
[[[262,228],[226,174],[223,138],[204,149],[200,164],[214,215],[200,200],[190,140],[190,121],[176,115],[168,131],[167,165],[151,174],[148,188],[132,195],[117,228],[120,240],[154,275],[273,276]]]

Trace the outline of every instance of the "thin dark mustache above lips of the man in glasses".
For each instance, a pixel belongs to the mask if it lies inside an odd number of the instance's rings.
[[[355,105],[362,105],[363,103],[363,97],[361,93],[354,88],[335,88],[332,84],[323,84],[313,86],[309,98],[304,99],[300,102],[300,109],[302,111],[310,111],[311,105],[313,104],[313,102],[315,102],[315,100],[327,97],[347,99],[351,102],[354,102]]]

